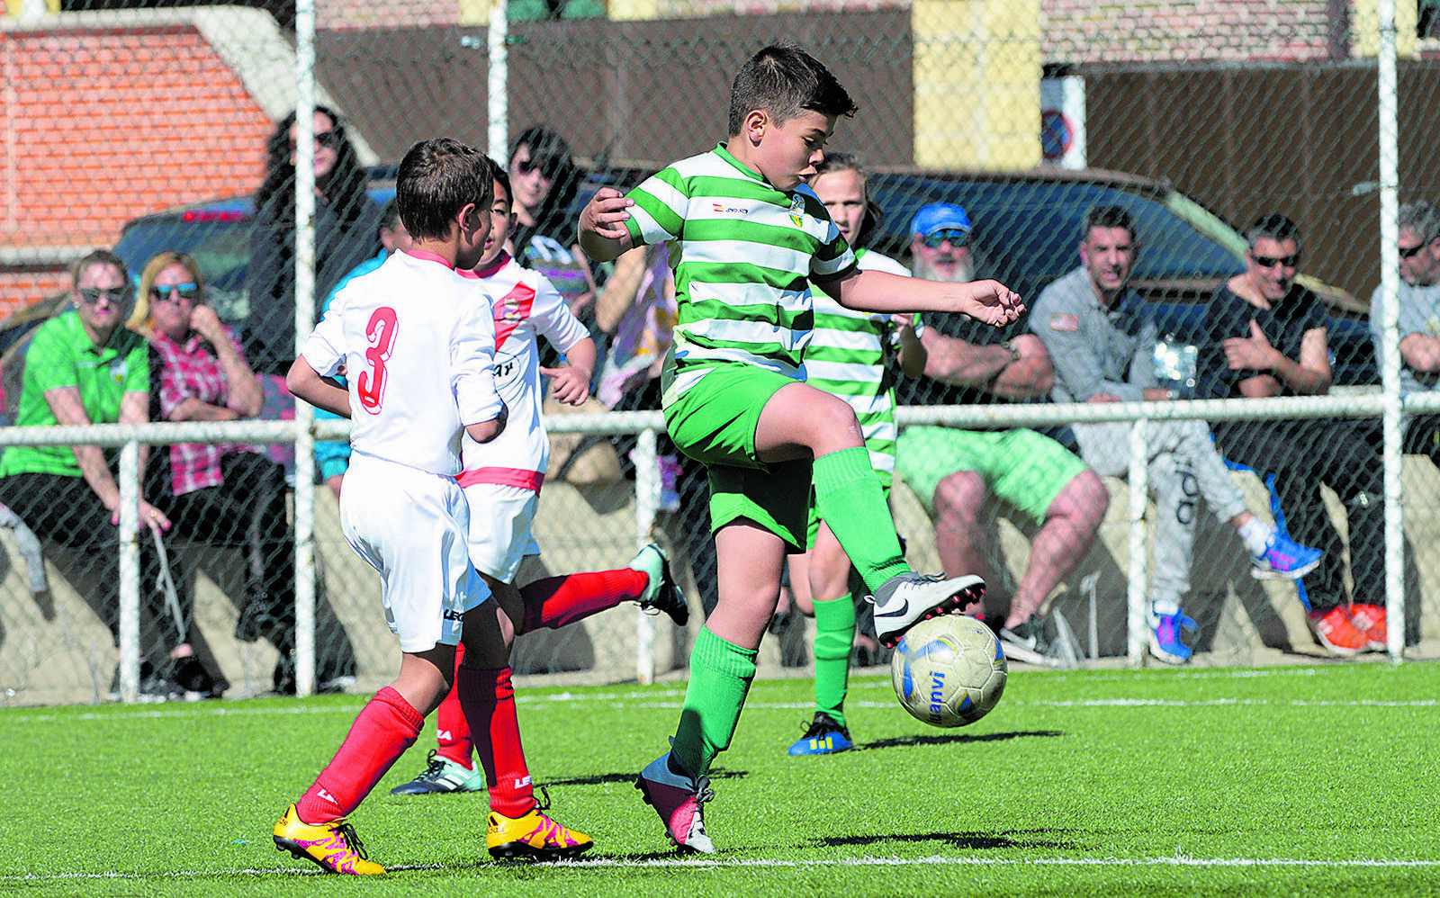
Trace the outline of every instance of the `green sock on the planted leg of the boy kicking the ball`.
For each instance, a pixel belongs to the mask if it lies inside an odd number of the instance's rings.
[[[757,653],[726,642],[708,629],[700,630],[690,652],[690,685],[685,686],[685,704],[671,748],[691,774],[704,776],[710,761],[730,747],[744,697],[755,679]]]

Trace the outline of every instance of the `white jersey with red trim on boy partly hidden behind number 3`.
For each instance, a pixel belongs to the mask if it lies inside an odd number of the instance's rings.
[[[501,484],[540,489],[550,465],[550,437],[541,417],[536,341],[544,337],[567,353],[589,331],[544,275],[521,268],[508,255],[488,269],[461,273],[478,278],[494,304],[495,389],[510,409],[505,430],[494,440],[481,445],[465,437],[461,486]]]

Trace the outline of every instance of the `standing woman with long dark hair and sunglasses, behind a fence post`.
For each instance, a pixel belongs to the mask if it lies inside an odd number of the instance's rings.
[[[295,114],[287,115],[265,142],[265,180],[255,191],[251,233],[245,348],[262,374],[284,377],[295,360]],[[315,289],[320,302],[356,265],[380,250],[380,207],[366,193],[367,174],[344,121],[315,106]]]

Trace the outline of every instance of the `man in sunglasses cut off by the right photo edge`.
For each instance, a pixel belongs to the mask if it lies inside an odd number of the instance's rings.
[[[1400,389],[1420,393],[1440,389],[1440,207],[1405,203],[1400,207]],[[1384,345],[1381,294],[1369,299],[1369,331]],[[1377,353],[1378,354],[1378,353]],[[1428,455],[1440,465],[1440,414],[1416,414],[1405,422],[1405,453]]]

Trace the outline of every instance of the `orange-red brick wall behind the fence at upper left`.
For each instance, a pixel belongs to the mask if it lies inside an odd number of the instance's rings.
[[[0,65],[0,246],[109,246],[135,216],[259,183],[271,121],[193,27],[4,32]],[[0,309],[49,284],[7,272]]]

